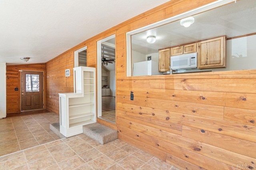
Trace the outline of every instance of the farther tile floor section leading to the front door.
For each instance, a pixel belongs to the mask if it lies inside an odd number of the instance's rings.
[[[0,156],[60,139],[50,130],[59,121],[52,112],[0,119]]]

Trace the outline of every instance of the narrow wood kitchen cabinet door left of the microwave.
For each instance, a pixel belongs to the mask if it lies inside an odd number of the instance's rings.
[[[159,72],[170,70],[171,49],[159,50]]]

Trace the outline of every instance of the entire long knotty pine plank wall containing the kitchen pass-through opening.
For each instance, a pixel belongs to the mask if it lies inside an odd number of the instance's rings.
[[[213,1],[172,0],[49,61],[47,108],[58,113],[58,92],[72,91],[64,70],[73,52],[87,45],[88,66],[96,67],[96,41],[115,33],[119,139],[180,169],[255,168],[256,70],[126,77],[126,32]]]

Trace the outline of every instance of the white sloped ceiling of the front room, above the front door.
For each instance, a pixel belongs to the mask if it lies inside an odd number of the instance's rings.
[[[46,63],[170,0],[0,0],[0,63]],[[31,57],[25,63],[21,57]]]

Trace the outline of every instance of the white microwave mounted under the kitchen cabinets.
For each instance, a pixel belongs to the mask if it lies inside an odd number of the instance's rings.
[[[172,70],[197,68],[197,53],[188,53],[171,57]]]

